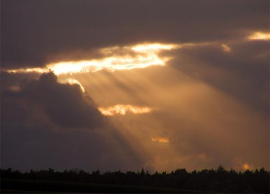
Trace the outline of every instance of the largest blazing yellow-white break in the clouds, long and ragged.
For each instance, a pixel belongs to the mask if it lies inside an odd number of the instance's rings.
[[[109,53],[110,56],[100,60],[69,61],[48,64],[46,68],[13,69],[9,72],[38,72],[44,73],[53,71],[56,75],[66,73],[96,72],[102,69],[108,71],[129,70],[135,68],[146,68],[152,65],[164,66],[168,61],[166,57],[160,57],[161,50],[171,50],[178,48],[177,45],[170,44],[139,44],[130,47],[117,47],[122,51],[131,51],[134,55],[120,56],[115,53],[115,47],[103,48],[101,53]]]

